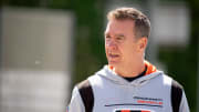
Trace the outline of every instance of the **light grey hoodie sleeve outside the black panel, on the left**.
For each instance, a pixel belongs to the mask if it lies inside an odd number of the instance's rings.
[[[80,95],[78,89],[75,86],[72,92],[71,102],[66,112],[85,112],[85,108]]]

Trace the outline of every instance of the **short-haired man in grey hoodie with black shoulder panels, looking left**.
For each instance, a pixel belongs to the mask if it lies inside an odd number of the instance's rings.
[[[107,18],[108,65],[74,88],[69,112],[189,112],[181,85],[144,59],[148,18],[134,8]]]

